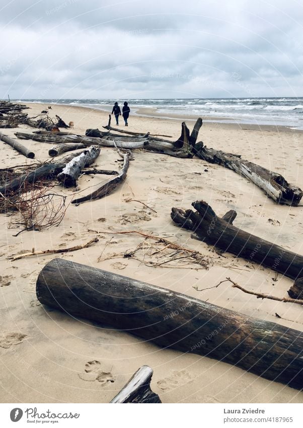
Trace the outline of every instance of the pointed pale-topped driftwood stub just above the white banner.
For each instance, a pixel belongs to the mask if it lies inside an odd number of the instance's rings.
[[[150,389],[153,373],[148,365],[142,365],[111,403],[161,403],[159,395]]]

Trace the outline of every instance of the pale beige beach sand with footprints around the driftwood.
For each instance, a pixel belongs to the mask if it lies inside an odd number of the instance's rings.
[[[47,108],[44,104],[29,105],[32,116]],[[53,105],[51,115],[55,114],[67,123],[72,120],[74,132],[82,135],[87,128],[102,129],[108,119],[108,112],[74,106]],[[192,127],[193,121],[188,121],[188,125]],[[131,115],[128,130],[166,134],[176,139],[180,135],[181,118]],[[25,126],[18,131],[32,129]],[[6,130],[12,136],[14,132]],[[199,136],[208,147],[240,153],[303,188],[302,133],[288,128],[206,123]],[[26,160],[2,143],[3,167],[49,159],[50,144],[33,141],[23,144],[36,153],[36,159]],[[117,169],[121,165],[117,159],[113,149],[102,148],[96,165]],[[75,194],[86,195],[106,179],[102,175],[81,177],[77,190],[64,190],[67,200]],[[62,192],[60,187],[55,189]],[[58,227],[24,231],[15,237],[19,230],[8,228],[10,217],[1,215],[1,402],[107,403],[143,364],[154,369],[152,388],[164,403],[302,402],[302,393],[230,364],[161,349],[127,333],[46,310],[36,299],[35,283],[43,266],[54,256],[8,260],[10,255],[32,248],[39,251],[71,247],[98,236],[99,242],[93,246],[59,257],[302,330],[302,308],[297,304],[257,299],[232,288],[228,282],[204,291],[193,288],[211,287],[231,277],[245,288],[282,297],[287,296],[292,283],[282,275],[273,281],[275,275],[271,270],[252,262],[230,254],[219,256],[203,242],[192,239],[188,231],[174,225],[170,219],[171,207],[190,208],[197,199],[207,201],[218,214],[236,209],[236,226],[303,254],[302,207],[279,206],[251,182],[220,166],[199,159],[176,159],[141,151],[135,152],[135,160],[121,187],[102,200],[79,207],[69,205]],[[209,269],[197,270],[194,264],[179,268],[148,267],[138,260],[125,259],[123,253],[136,249],[144,240],[135,234],[115,234],[126,230],[169,236],[210,258]],[[150,241],[144,242],[143,250],[137,253],[138,259],[143,259],[149,245]]]

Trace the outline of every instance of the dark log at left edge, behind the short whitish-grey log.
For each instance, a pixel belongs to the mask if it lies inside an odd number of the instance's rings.
[[[59,172],[62,171],[67,162],[74,158],[75,154],[65,156],[61,159],[58,159],[57,162],[46,163],[39,168],[36,168],[34,171],[20,175],[17,178],[9,181],[5,186],[0,188],[0,193],[6,195],[10,192],[18,192],[19,189],[25,183],[34,183],[41,178],[47,178],[49,180],[54,180],[57,178]]]

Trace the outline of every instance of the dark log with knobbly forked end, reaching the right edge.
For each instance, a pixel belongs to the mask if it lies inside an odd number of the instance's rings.
[[[192,206],[197,210],[172,208],[171,218],[181,227],[193,230],[206,243],[238,257],[256,262],[289,278],[303,276],[303,256],[266,241],[219,218],[204,201]]]

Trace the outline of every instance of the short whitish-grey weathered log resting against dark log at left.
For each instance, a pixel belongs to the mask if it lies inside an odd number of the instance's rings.
[[[68,162],[62,171],[57,175],[57,179],[64,187],[76,185],[77,178],[85,166],[91,165],[100,154],[100,147],[92,146],[79,156]]]

